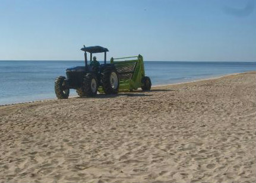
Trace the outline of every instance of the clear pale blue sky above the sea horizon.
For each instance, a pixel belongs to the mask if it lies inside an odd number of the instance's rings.
[[[0,0],[0,60],[255,62],[255,25],[254,0]]]

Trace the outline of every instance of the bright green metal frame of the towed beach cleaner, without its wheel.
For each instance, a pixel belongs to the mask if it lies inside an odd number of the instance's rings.
[[[131,59],[131,58],[137,58],[137,59],[115,61],[115,60],[121,60],[121,59]],[[116,59],[112,57],[110,59],[110,63],[113,63],[117,69],[125,66],[135,65],[135,68],[132,72],[132,76],[130,79],[119,80],[119,91],[121,92],[132,91],[134,89],[136,90],[138,88],[141,88],[141,86],[143,85],[141,82],[141,79],[145,76],[143,56],[139,54],[138,56],[121,57]]]

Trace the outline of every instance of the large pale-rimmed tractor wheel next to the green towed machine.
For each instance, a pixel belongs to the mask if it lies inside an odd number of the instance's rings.
[[[105,69],[103,71],[102,86],[105,94],[116,94],[119,88],[119,78],[116,69]]]

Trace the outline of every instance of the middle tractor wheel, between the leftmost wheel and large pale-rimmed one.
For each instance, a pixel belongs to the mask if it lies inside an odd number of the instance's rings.
[[[80,97],[93,97],[97,95],[98,88],[97,76],[94,73],[88,73],[84,76],[81,88],[77,89],[77,94]]]

